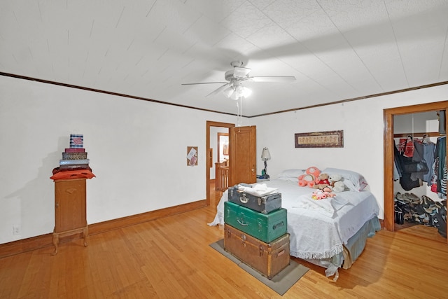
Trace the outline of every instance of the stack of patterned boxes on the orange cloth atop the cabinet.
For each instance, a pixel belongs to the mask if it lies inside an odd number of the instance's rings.
[[[88,169],[89,159],[87,159],[87,153],[83,146],[83,135],[70,134],[70,148],[66,148],[62,153],[62,160],[59,160],[59,169]]]

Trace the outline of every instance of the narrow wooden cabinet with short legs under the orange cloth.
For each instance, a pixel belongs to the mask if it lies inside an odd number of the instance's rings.
[[[59,237],[82,233],[87,246],[88,228],[86,218],[86,179],[66,179],[55,181],[55,230],[53,244],[55,255]]]

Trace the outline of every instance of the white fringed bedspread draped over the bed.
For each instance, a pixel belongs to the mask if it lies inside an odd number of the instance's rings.
[[[266,182],[281,193],[281,206],[288,210],[290,255],[304,259],[331,258],[363,224],[377,216],[379,207],[370,191],[336,193],[336,197],[312,200],[314,189],[279,179]],[[225,191],[209,225],[224,224]]]

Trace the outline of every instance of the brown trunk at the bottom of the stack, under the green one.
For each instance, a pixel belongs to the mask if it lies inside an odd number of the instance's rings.
[[[272,279],[290,263],[288,233],[265,243],[225,223],[224,250],[267,279]]]

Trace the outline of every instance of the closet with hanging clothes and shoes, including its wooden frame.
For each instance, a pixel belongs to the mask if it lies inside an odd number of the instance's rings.
[[[384,111],[384,228],[447,242],[448,102]]]

